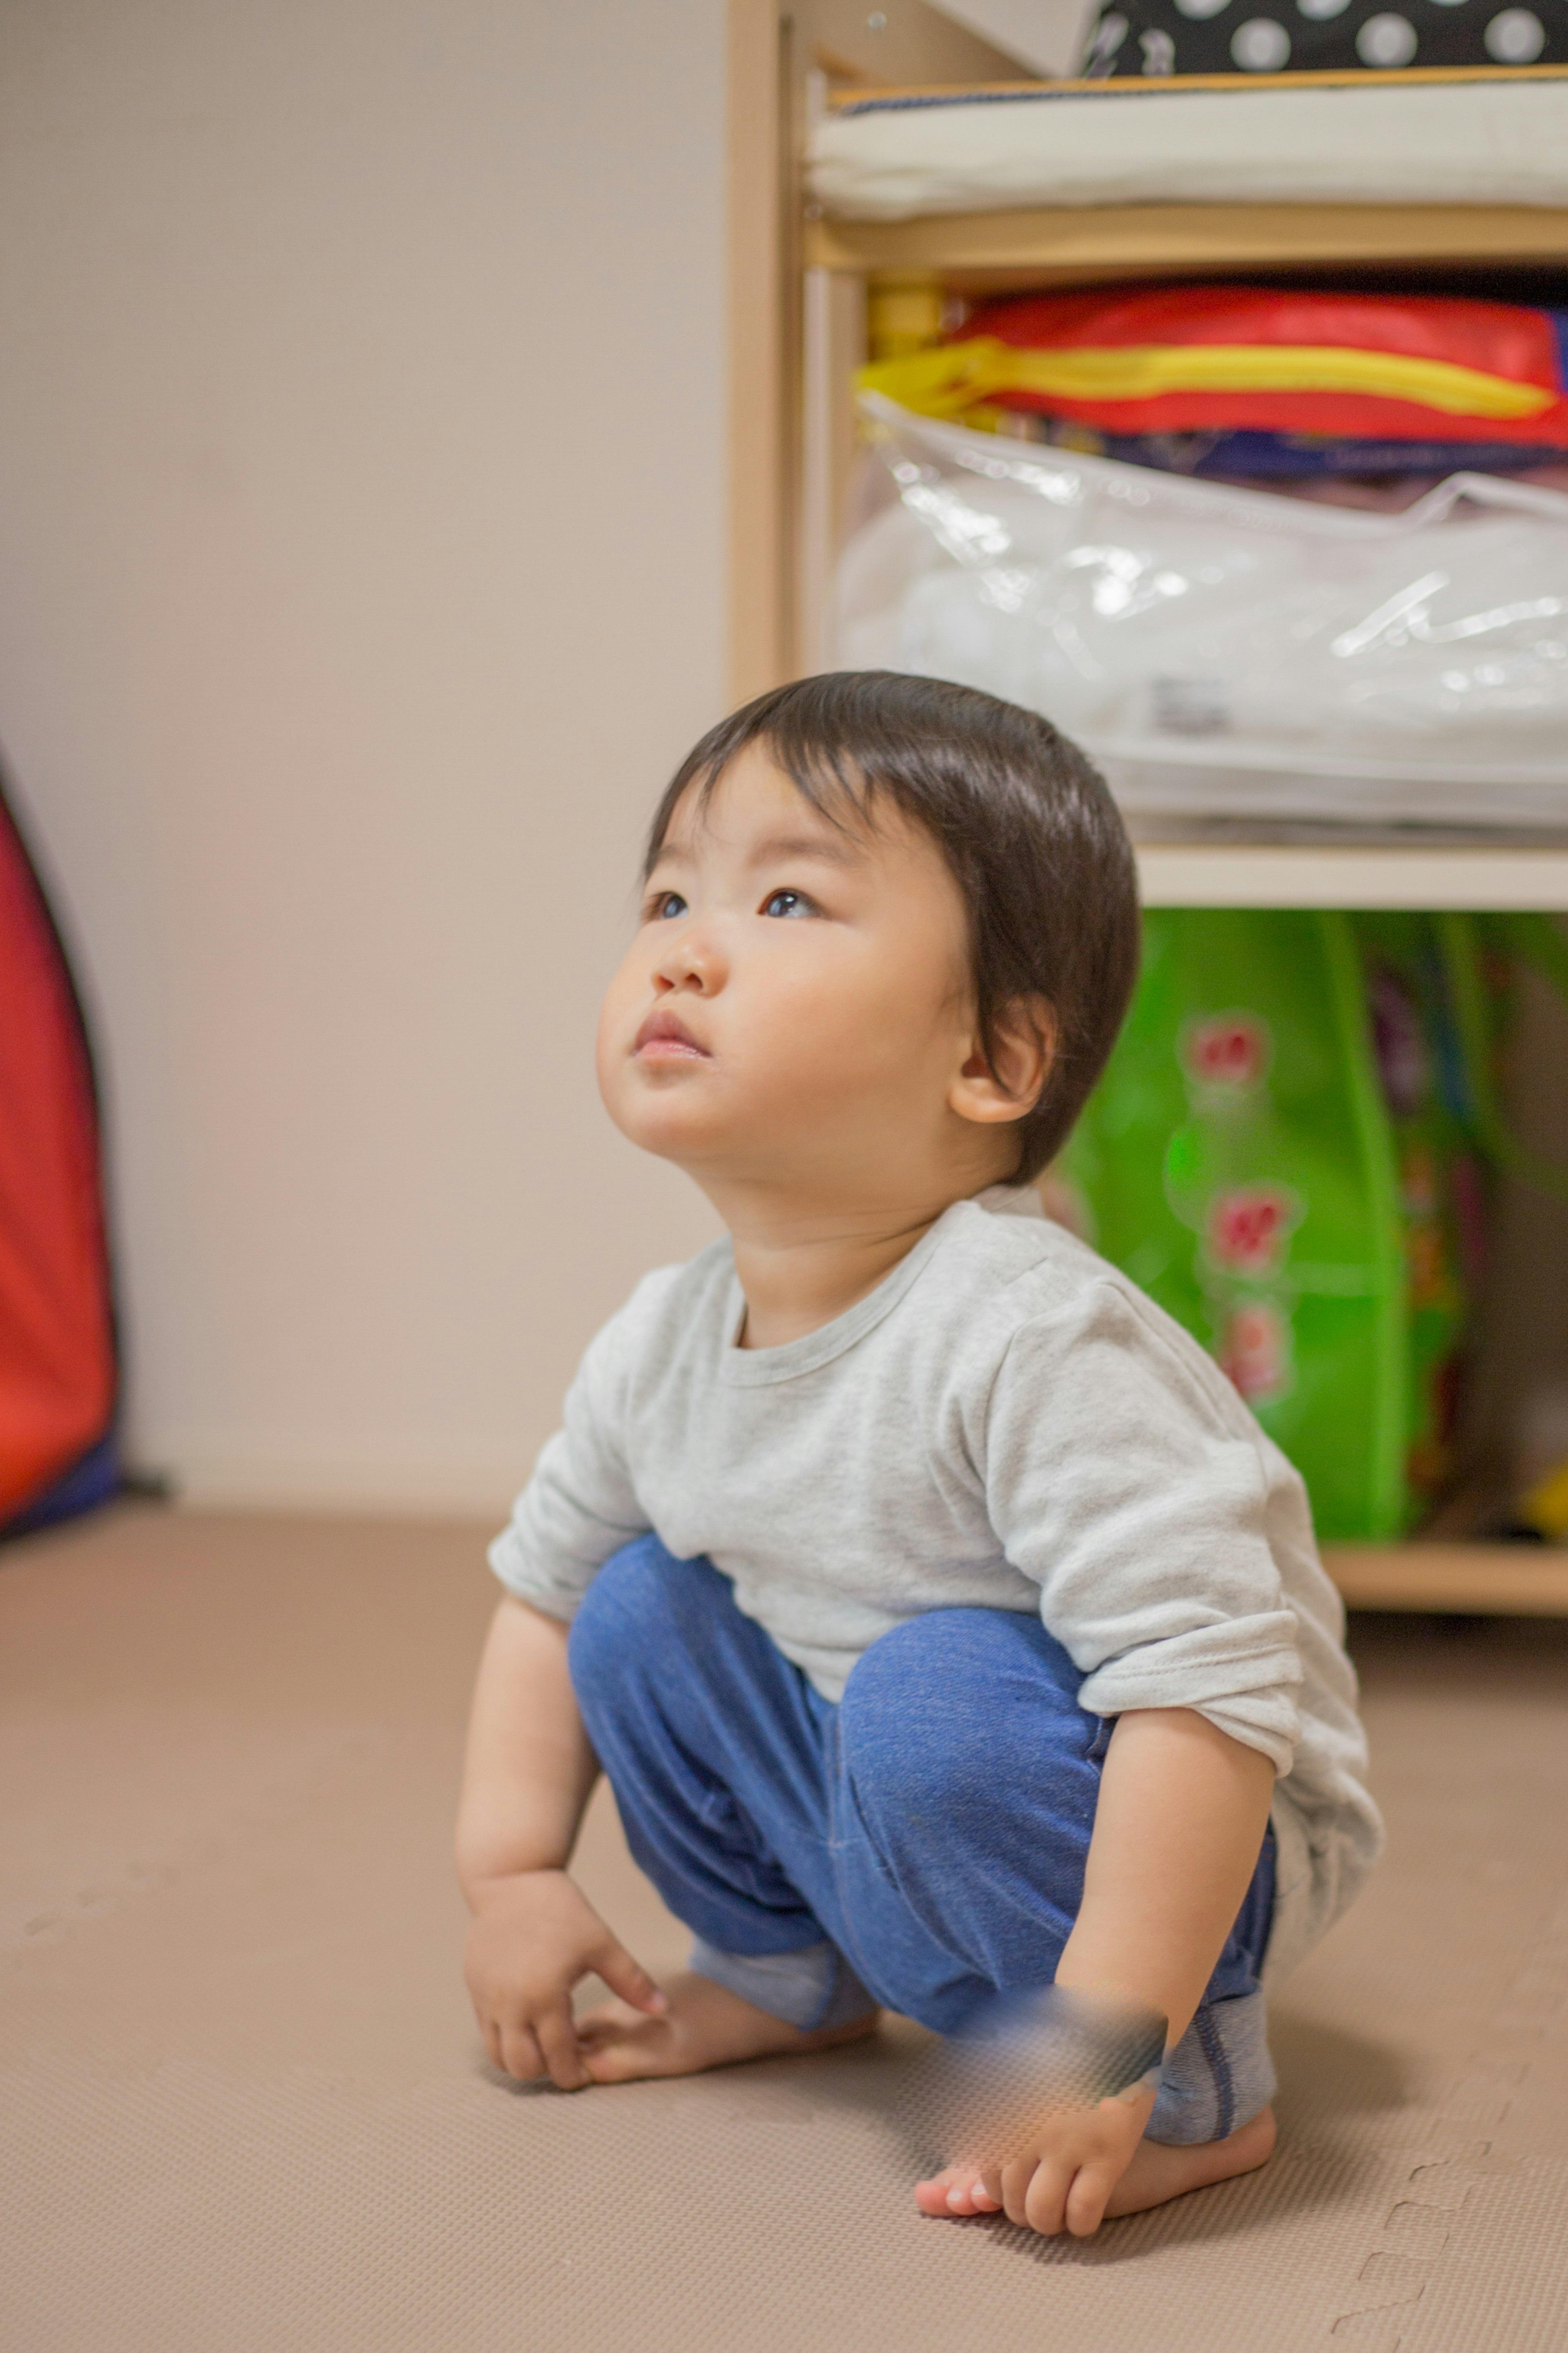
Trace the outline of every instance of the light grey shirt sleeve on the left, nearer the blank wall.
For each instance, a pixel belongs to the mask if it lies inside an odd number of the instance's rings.
[[[649,1529],[625,1459],[625,1393],[637,1297],[592,1339],[567,1391],[562,1426],[489,1548],[489,1565],[517,1600],[571,1619],[611,1553]]]

